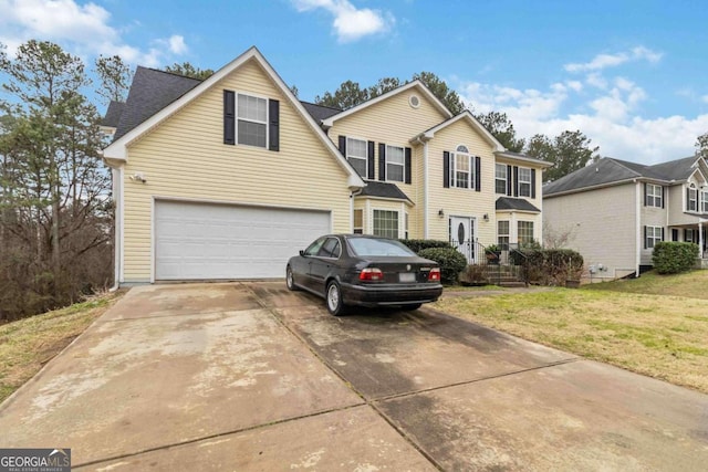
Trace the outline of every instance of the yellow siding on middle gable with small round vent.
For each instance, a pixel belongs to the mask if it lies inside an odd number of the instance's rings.
[[[413,108],[408,104],[410,95],[420,99],[420,106]],[[421,132],[447,119],[433,103],[417,88],[405,91],[383,102],[371,105],[334,122],[327,132],[330,138],[337,144],[339,136],[348,136],[376,143],[374,151],[374,175],[378,180],[378,144],[412,148],[410,185],[391,181],[408,196],[415,208],[408,209],[408,231],[410,238],[423,238],[423,146],[413,145],[410,139]],[[362,176],[367,178],[367,176]],[[369,231],[371,232],[371,231]]]

